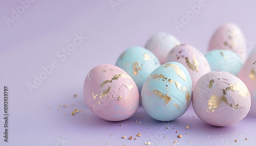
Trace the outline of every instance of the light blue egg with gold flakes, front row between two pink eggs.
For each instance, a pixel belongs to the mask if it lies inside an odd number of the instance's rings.
[[[186,67],[179,62],[168,62],[156,68],[144,82],[141,104],[157,120],[174,120],[187,111],[192,89]]]

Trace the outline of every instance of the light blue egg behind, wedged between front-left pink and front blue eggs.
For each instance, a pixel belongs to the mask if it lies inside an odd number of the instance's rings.
[[[126,71],[135,81],[139,92],[146,78],[160,66],[157,57],[149,50],[133,46],[127,48],[117,59],[116,66]]]

